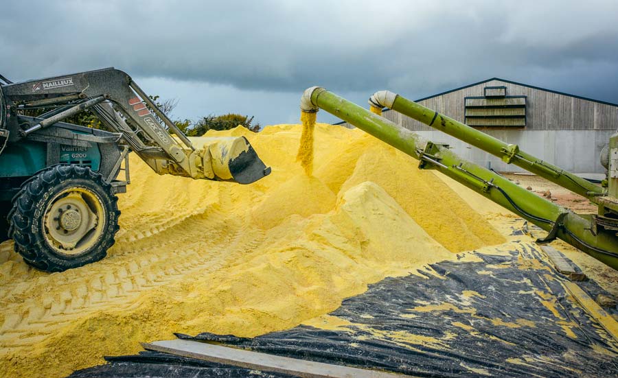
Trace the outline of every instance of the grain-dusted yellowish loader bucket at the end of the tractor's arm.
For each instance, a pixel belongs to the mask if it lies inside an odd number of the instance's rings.
[[[207,178],[251,184],[271,173],[245,137],[193,137]],[[211,177],[214,175],[214,177]]]

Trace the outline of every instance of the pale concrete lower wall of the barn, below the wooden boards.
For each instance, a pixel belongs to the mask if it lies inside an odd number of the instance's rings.
[[[573,173],[605,172],[599,154],[613,134],[610,130],[483,130],[488,134],[519,145],[520,150]],[[447,143],[453,152],[485,168],[499,172],[525,172],[516,165],[479,150],[437,130],[416,131],[435,143]]]

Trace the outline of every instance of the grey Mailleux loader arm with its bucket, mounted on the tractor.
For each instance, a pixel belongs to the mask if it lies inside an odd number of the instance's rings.
[[[8,84],[3,93],[13,112],[56,107],[34,121],[22,119],[14,125],[12,141],[89,109],[106,128],[122,134],[122,141],[158,174],[247,184],[270,173],[244,137],[212,139],[196,149],[133,79],[117,69]]]

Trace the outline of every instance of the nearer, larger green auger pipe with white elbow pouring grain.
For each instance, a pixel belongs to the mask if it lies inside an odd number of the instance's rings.
[[[544,241],[562,239],[618,270],[618,238],[610,233],[593,235],[590,219],[540,198],[506,178],[460,158],[444,145],[427,141],[324,88],[308,88],[301,98],[301,110],[313,113],[319,108],[412,156],[419,161],[421,168],[437,169],[536,224],[548,232]]]

